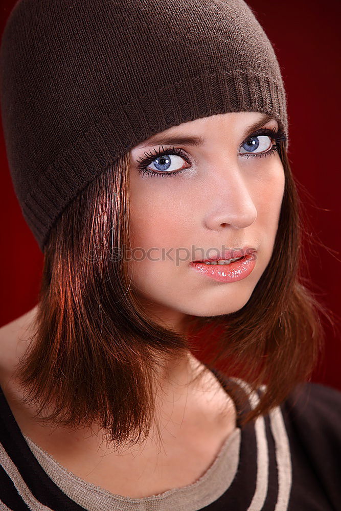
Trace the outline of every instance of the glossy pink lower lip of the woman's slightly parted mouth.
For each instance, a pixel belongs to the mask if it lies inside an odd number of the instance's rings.
[[[245,255],[244,259],[230,264],[206,264],[202,261],[190,263],[192,268],[213,278],[217,282],[236,282],[247,277],[256,266],[254,256]]]

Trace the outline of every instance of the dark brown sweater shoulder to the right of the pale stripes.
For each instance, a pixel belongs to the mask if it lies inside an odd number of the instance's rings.
[[[291,452],[293,503],[309,494],[315,501],[327,498],[323,509],[341,509],[341,392],[317,383],[302,384],[280,409]],[[309,505],[315,509],[315,504]]]

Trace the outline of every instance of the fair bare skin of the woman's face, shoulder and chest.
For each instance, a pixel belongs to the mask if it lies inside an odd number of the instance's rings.
[[[224,284],[193,272],[189,268],[192,258],[178,266],[167,259],[131,262],[132,286],[146,311],[175,331],[184,331],[188,315],[229,314],[242,308],[270,260],[284,193],[283,166],[276,152],[262,158],[239,153],[247,128],[261,119],[258,112],[226,113],[165,130],[165,135],[204,138],[200,147],[175,145],[191,159],[188,164],[171,155],[172,171],[188,167],[178,175],[161,178],[137,172],[138,158],[160,144],[146,146],[148,141],[144,141],[131,151],[132,246],[208,249],[224,244],[226,248],[248,245],[257,249],[253,272]],[[277,128],[277,121],[263,127]],[[271,147],[270,138],[259,140],[262,151]],[[157,170],[155,165],[148,168]],[[153,257],[158,256],[154,253]],[[92,430],[67,431],[34,423],[33,410],[20,403],[11,377],[27,349],[35,313],[36,307],[0,329],[0,384],[23,433],[67,470],[131,498],[186,486],[208,470],[236,427],[236,410],[211,373],[199,383],[188,383],[201,367],[191,354],[168,361],[162,375],[157,399],[161,444],[151,431],[141,445],[117,451],[103,445],[103,432],[96,425]]]

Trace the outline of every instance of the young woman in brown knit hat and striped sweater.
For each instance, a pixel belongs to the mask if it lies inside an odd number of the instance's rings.
[[[1,508],[339,509],[341,394],[304,383],[325,312],[251,9],[21,0],[0,63],[44,252],[0,330]]]

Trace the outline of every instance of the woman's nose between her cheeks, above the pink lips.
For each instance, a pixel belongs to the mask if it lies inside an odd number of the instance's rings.
[[[204,217],[204,223],[212,230],[228,226],[246,228],[257,218],[250,185],[237,166],[228,170],[225,167],[214,176],[211,173],[205,203],[209,205],[209,212]]]

